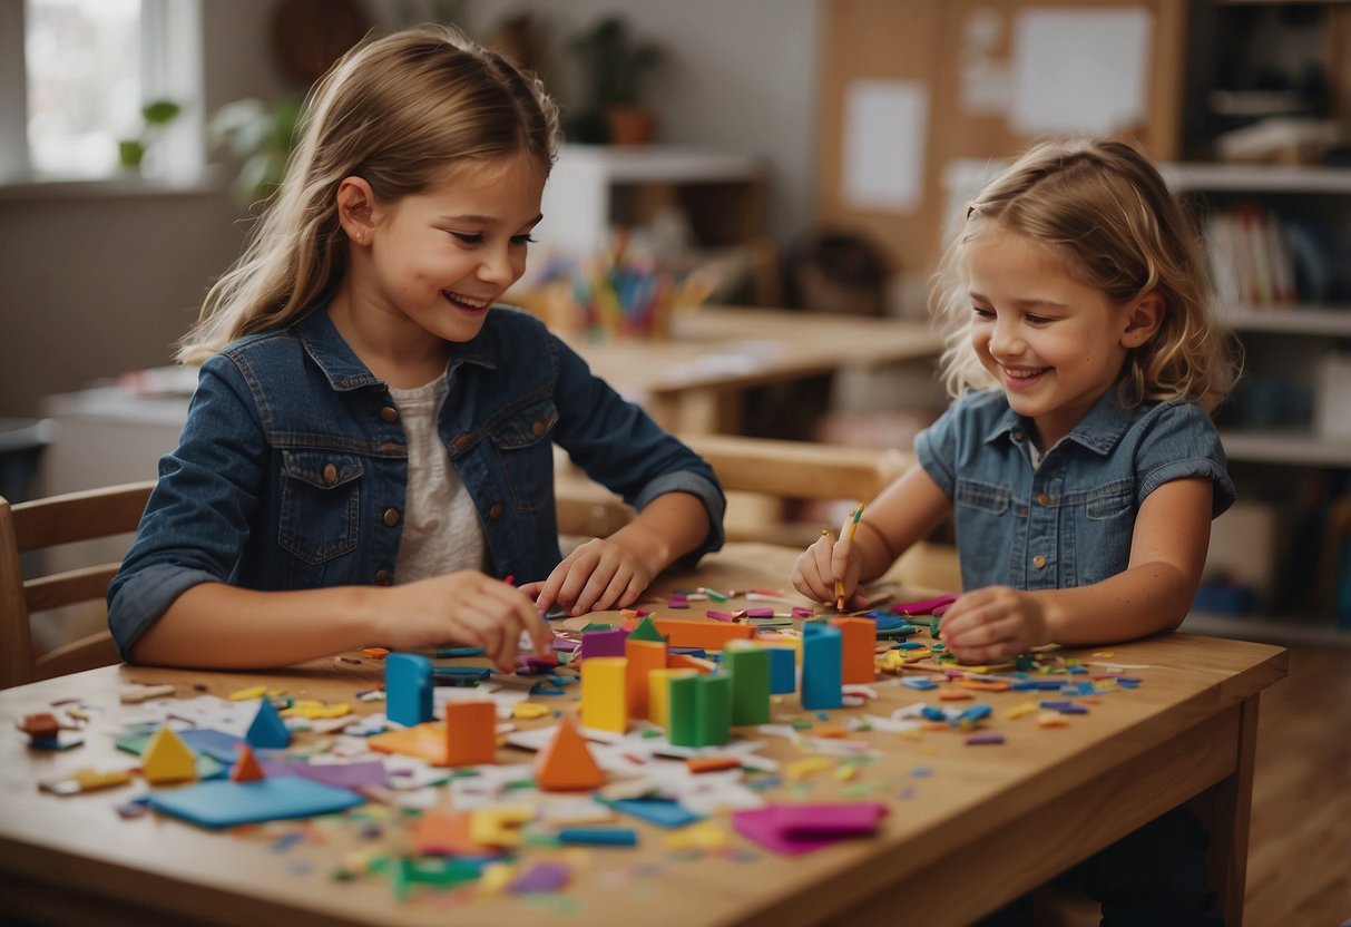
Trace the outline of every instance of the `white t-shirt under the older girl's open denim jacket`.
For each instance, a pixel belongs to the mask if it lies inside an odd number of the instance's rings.
[[[404,536],[394,581],[413,582],[455,570],[484,569],[486,547],[478,511],[436,434],[446,377],[413,389],[390,388],[389,395],[408,439]]]

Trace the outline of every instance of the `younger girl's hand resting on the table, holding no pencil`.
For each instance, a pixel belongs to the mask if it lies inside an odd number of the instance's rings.
[[[994,663],[1047,643],[1046,609],[1027,592],[986,586],[962,593],[943,615],[943,646],[963,663]]]

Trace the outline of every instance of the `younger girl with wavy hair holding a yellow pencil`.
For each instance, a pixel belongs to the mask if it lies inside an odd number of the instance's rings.
[[[1024,154],[970,204],[936,277],[955,403],[852,543],[823,536],[798,557],[797,589],[857,591],[951,513],[963,592],[942,636],[961,661],[1177,628],[1210,520],[1235,495],[1209,416],[1235,365],[1205,266],[1188,216],[1128,146]],[[1170,813],[1077,884],[1104,901],[1104,924],[1219,923],[1204,843],[1194,818]]]

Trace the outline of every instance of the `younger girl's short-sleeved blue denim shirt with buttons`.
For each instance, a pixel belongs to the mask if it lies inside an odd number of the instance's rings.
[[[1209,478],[1212,518],[1233,504],[1220,436],[1196,403],[1123,409],[1109,389],[1036,470],[1031,434],[1001,391],[982,391],[915,441],[952,499],[963,589],[1066,589],[1123,572],[1140,505],[1170,480]]]

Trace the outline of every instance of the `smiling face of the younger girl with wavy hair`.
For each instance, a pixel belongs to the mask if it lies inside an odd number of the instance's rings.
[[[990,224],[967,246],[971,346],[1042,450],[1069,434],[1147,339],[1139,305],[1074,280],[1051,246]],[[1148,297],[1147,297],[1148,299]]]

